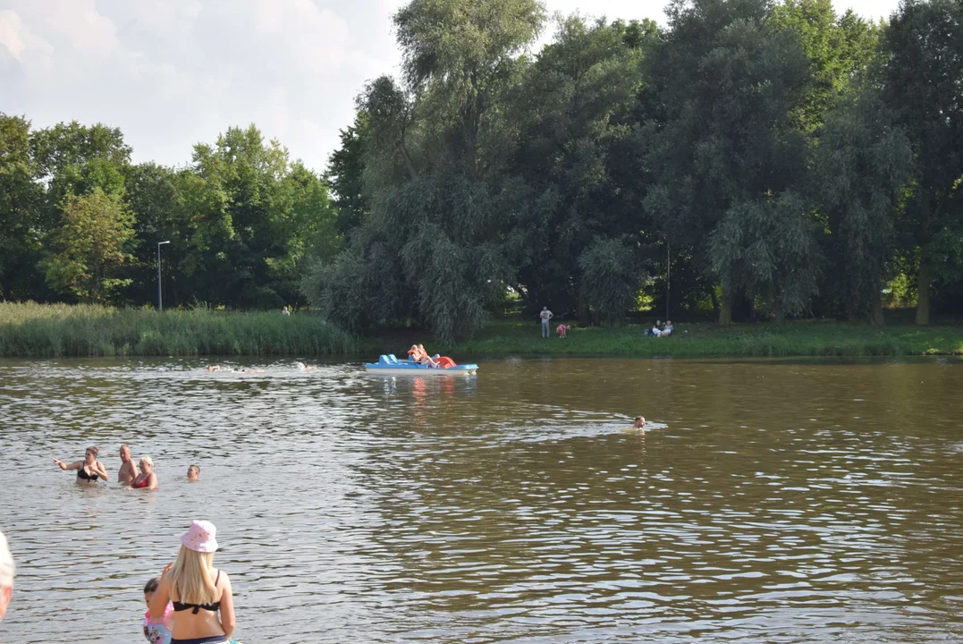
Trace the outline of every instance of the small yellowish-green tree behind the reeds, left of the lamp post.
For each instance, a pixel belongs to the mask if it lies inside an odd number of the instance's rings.
[[[125,245],[134,237],[133,217],[116,195],[95,188],[67,195],[64,224],[52,235],[52,253],[43,261],[50,286],[83,301],[110,301],[129,280],[117,270],[131,259]]]

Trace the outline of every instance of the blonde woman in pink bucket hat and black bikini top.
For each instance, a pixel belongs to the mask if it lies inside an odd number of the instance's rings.
[[[177,560],[164,569],[154,596],[150,617],[164,617],[168,602],[174,605],[170,644],[227,644],[234,632],[234,599],[227,574],[214,568],[217,528],[195,521],[181,535]]]

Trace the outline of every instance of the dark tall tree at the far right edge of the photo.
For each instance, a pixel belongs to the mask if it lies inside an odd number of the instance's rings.
[[[963,229],[963,5],[902,0],[883,35],[883,53],[883,102],[915,157],[902,226],[919,256],[916,322],[928,324],[934,264],[952,257],[937,249]],[[936,271],[951,273],[946,266]]]

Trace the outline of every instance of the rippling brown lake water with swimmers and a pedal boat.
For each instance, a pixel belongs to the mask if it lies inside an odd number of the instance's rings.
[[[292,364],[0,362],[0,642],[143,641],[195,518],[247,644],[963,638],[963,362]]]

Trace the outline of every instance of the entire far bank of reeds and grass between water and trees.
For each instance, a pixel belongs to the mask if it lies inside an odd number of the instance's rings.
[[[115,355],[346,355],[374,359],[403,355],[412,343],[463,356],[611,355],[629,357],[908,356],[963,355],[963,325],[892,325],[881,329],[845,322],[682,323],[669,338],[645,337],[647,324],[573,328],[560,340],[539,338],[537,323],[496,320],[472,339],[442,346],[417,330],[353,338],[321,316],[280,312],[168,311],[104,306],[0,303],[0,356]]]

